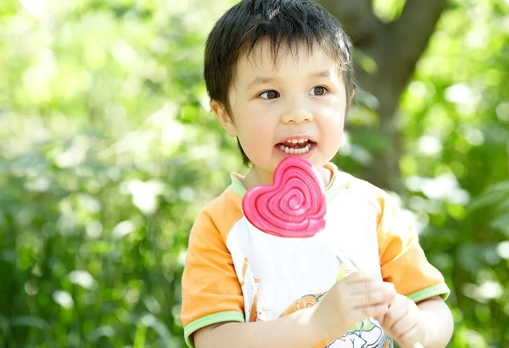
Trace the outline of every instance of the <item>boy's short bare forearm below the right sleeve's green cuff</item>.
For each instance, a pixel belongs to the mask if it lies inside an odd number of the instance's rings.
[[[426,348],[443,348],[453,336],[454,320],[449,307],[439,296],[417,304],[422,314],[427,337],[421,342]]]

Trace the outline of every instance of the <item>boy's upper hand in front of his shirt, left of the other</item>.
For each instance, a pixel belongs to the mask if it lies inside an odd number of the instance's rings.
[[[396,292],[369,274],[355,272],[338,281],[314,307],[313,321],[324,340],[341,337],[357,322],[383,316]]]

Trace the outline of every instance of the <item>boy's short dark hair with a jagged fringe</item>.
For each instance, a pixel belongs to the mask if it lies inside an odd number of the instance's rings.
[[[347,109],[354,91],[352,43],[341,24],[311,0],[242,0],[215,23],[205,46],[204,77],[211,100],[230,114],[228,91],[239,56],[249,53],[261,39],[269,39],[276,64],[281,45],[290,51],[305,43],[315,45],[337,61],[346,86]],[[240,146],[244,164],[250,161]]]

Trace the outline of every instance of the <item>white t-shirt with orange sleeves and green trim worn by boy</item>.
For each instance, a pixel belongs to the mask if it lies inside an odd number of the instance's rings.
[[[242,213],[241,177],[197,216],[182,276],[181,320],[192,334],[223,322],[269,321],[313,306],[330,287],[357,268],[394,284],[415,302],[449,288],[422,251],[390,196],[329,163],[326,227],[310,238],[263,233]],[[317,348],[392,347],[379,323],[366,319],[343,337]]]

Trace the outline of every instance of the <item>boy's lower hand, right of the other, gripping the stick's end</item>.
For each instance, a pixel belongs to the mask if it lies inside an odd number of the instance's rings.
[[[375,317],[385,333],[401,348],[421,347],[426,340],[426,329],[421,324],[420,310],[409,298],[396,294],[385,315]]]

